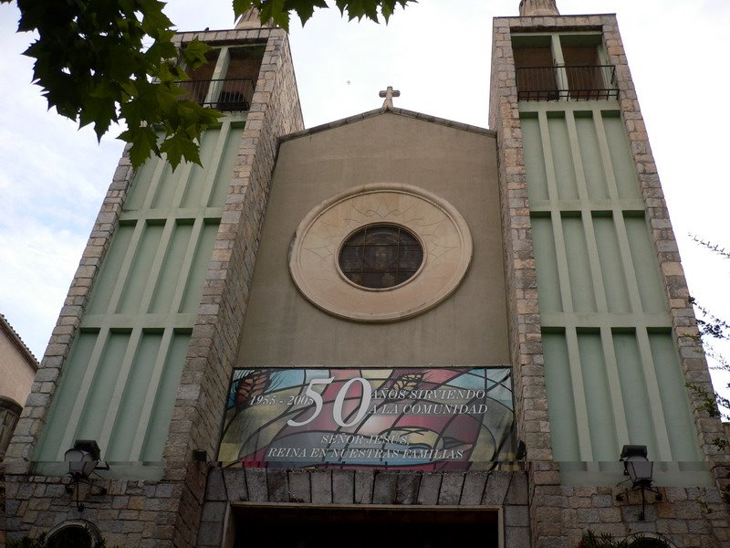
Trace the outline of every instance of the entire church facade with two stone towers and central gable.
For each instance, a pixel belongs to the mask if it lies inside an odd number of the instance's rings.
[[[283,30],[177,37],[214,47],[184,89],[224,119],[203,167],[120,160],[7,452],[10,538],[730,546],[616,18],[520,10],[489,130],[392,90],[305,129]]]

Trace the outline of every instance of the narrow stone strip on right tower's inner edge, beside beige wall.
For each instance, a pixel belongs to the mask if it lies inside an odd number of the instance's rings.
[[[506,21],[511,19],[495,19],[493,28],[489,126],[497,133],[516,423],[519,437],[527,446],[532,545],[551,546],[561,536],[560,522],[550,510],[550,497],[559,488],[560,479],[550,445],[537,271],[510,26]]]

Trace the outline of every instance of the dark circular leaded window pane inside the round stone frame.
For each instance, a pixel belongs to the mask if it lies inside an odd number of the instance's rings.
[[[370,225],[348,238],[339,252],[339,269],[354,284],[381,290],[411,279],[421,268],[423,249],[403,227]]]

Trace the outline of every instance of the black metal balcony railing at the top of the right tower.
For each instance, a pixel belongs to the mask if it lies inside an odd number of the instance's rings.
[[[619,97],[613,65],[517,67],[517,100],[599,100]]]

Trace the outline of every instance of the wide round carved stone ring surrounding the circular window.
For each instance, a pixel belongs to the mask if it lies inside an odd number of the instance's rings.
[[[338,264],[342,243],[373,224],[404,227],[423,246],[421,269],[384,291],[349,282]],[[301,294],[330,315],[401,321],[447,299],[464,279],[472,253],[471,233],[454,205],[411,184],[371,183],[330,196],[309,211],[289,248],[289,272]]]

